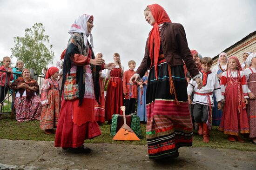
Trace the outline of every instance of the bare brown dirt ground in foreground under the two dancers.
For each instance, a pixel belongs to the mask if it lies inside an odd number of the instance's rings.
[[[182,147],[166,162],[148,159],[147,146],[87,144],[90,154],[54,148],[54,142],[0,139],[0,170],[256,170],[256,152]]]

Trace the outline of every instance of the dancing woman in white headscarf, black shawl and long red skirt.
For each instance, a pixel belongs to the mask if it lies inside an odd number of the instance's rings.
[[[100,97],[99,72],[114,66],[113,63],[105,65],[102,58],[95,59],[91,34],[93,26],[92,15],[80,15],[74,21],[68,31],[71,37],[63,63],[62,101],[55,147],[75,153],[91,152],[83,145],[84,140],[101,135],[94,117],[94,99],[99,102]]]

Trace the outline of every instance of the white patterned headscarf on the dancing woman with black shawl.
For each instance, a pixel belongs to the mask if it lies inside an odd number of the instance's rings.
[[[92,47],[93,45],[93,35],[88,32],[87,28],[87,22],[89,19],[94,19],[93,15],[87,15],[83,14],[80,15],[76,20],[74,20],[74,23],[71,25],[70,30],[68,30],[69,34],[73,33],[83,33],[83,38],[84,38],[84,45],[87,46],[87,38],[90,36],[90,44]]]

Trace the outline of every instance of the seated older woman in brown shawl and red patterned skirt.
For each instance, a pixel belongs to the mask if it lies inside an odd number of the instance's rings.
[[[30,78],[30,71],[23,69],[22,77],[14,80],[10,87],[17,90],[14,101],[16,120],[19,122],[39,120],[42,108],[41,100],[37,96],[39,85],[36,80]]]

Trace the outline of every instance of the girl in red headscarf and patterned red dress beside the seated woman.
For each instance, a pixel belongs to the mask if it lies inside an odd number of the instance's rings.
[[[60,87],[59,69],[50,67],[47,70],[44,84],[41,88],[41,104],[43,105],[40,118],[40,128],[46,134],[55,133],[54,128],[57,127],[60,112]]]

